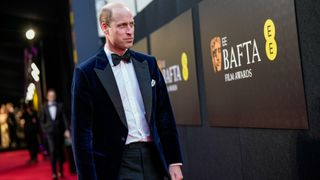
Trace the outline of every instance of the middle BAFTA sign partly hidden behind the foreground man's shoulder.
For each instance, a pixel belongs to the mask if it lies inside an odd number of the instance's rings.
[[[201,122],[192,29],[189,10],[150,35],[151,54],[157,58],[179,125]]]

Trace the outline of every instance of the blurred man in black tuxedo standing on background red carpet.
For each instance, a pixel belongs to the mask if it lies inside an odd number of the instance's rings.
[[[45,133],[51,160],[52,177],[63,177],[64,138],[69,138],[68,123],[61,103],[56,102],[56,92],[50,89],[47,92],[48,103],[40,113],[40,125]],[[59,173],[57,174],[57,164]]]

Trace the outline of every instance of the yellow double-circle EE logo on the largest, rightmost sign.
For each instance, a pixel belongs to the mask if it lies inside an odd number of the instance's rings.
[[[266,39],[266,54],[270,61],[274,61],[277,57],[277,41],[275,40],[276,36],[276,27],[271,19],[267,19],[264,23],[263,28],[264,38]]]

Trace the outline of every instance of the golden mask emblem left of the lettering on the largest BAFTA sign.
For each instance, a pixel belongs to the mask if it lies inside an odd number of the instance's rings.
[[[213,69],[215,72],[221,71],[222,56],[221,56],[221,40],[220,37],[214,37],[211,40],[211,57]]]

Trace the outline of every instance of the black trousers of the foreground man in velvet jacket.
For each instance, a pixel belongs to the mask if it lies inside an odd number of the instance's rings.
[[[163,172],[152,143],[138,142],[125,146],[119,180],[163,180]]]

